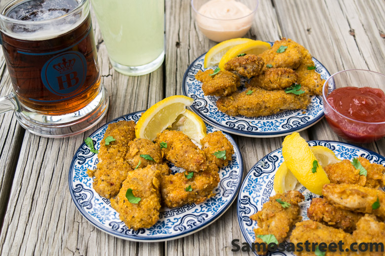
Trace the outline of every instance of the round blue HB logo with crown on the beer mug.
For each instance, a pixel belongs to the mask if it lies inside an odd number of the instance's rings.
[[[87,64],[84,56],[75,51],[61,53],[47,61],[41,70],[44,86],[59,96],[71,95],[85,82]]]

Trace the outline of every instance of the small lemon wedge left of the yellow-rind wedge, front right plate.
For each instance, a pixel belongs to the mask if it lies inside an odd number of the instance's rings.
[[[273,189],[276,193],[294,190],[298,184],[297,178],[287,168],[286,162],[281,163],[274,176]]]

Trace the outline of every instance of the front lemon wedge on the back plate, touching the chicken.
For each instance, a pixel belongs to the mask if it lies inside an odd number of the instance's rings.
[[[222,57],[221,61],[219,62],[218,67],[220,69],[223,69],[225,64],[228,61],[237,57],[239,54],[246,53],[246,54],[259,55],[264,51],[269,50],[270,48],[271,46],[269,43],[259,41],[259,40],[253,40],[251,42],[236,45],[225,53],[225,55]]]

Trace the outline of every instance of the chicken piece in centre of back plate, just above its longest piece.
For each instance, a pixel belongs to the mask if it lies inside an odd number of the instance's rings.
[[[290,68],[277,67],[269,68],[262,75],[253,77],[247,88],[259,87],[266,90],[280,90],[290,87],[297,81],[297,73]]]

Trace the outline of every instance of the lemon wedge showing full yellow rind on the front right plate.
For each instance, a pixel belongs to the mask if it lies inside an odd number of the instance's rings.
[[[289,170],[302,185],[312,193],[322,194],[323,185],[329,184],[330,180],[319,163],[315,172],[312,172],[313,162],[317,159],[298,132],[285,137],[282,142],[282,156]]]

